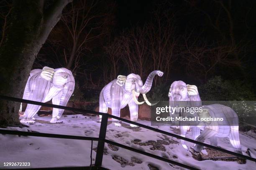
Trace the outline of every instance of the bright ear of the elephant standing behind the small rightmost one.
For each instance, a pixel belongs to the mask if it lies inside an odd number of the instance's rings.
[[[187,93],[192,107],[202,106],[202,101],[195,85],[187,85]]]

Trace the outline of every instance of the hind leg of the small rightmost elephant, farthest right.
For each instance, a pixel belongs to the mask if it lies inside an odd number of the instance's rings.
[[[230,135],[228,136],[231,145],[235,148],[236,153],[242,153],[241,144],[239,139],[238,126],[230,126]]]

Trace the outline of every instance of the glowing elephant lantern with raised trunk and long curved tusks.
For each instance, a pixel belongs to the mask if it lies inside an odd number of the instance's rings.
[[[163,74],[164,73],[159,70],[151,72],[144,85],[139,75],[133,73],[129,74],[127,77],[118,75],[117,79],[108,83],[108,85],[101,90],[99,111],[107,113],[108,107],[110,107],[112,115],[120,117],[120,109],[128,104],[131,121],[136,121],[138,119],[138,105],[144,102],[148,105],[152,105],[146,98],[146,93],[151,89],[154,76],[158,75],[161,77]],[[140,93],[143,94],[145,100],[143,102],[138,102]],[[100,119],[101,117],[102,116],[100,116]],[[121,126],[116,119],[112,119],[112,122],[114,122],[116,126]],[[136,127],[136,125],[130,125]]]

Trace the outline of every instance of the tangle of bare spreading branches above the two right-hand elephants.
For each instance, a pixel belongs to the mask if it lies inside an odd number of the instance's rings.
[[[234,57],[241,51],[232,45],[223,45],[221,42],[207,43],[205,40],[189,40],[184,38],[184,49],[181,56],[187,75],[194,75],[203,82],[209,75],[213,75],[220,66],[241,67],[241,58]]]

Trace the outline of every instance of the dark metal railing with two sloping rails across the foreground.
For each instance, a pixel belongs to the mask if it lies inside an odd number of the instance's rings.
[[[108,125],[108,117],[111,117],[111,118],[114,118],[114,119],[117,119],[117,120],[120,120],[120,121],[123,121],[123,122],[127,122],[127,123],[130,123],[130,124],[133,124],[133,125],[137,125],[137,126],[140,126],[141,128],[146,128],[148,130],[152,130],[152,131],[155,131],[155,132],[158,132],[158,133],[162,133],[164,135],[172,136],[174,138],[182,139],[182,140],[185,140],[185,141],[188,141],[188,142],[191,142],[191,143],[195,143],[195,144],[198,144],[198,145],[205,146],[207,148],[211,148],[211,149],[214,149],[214,150],[219,150],[221,152],[228,153],[230,155],[234,155],[234,156],[237,156],[237,157],[240,157],[240,158],[244,158],[244,159],[256,162],[256,158],[252,158],[252,157],[249,157],[249,156],[246,156],[246,155],[242,155],[242,154],[235,153],[235,152],[232,152],[232,151],[229,151],[229,150],[225,150],[223,148],[218,148],[218,147],[215,147],[215,146],[212,146],[212,145],[208,145],[206,143],[198,142],[196,140],[185,138],[185,137],[182,137],[180,135],[176,135],[174,133],[169,133],[169,132],[159,130],[159,129],[156,129],[156,128],[153,128],[153,127],[150,127],[150,126],[147,126],[147,125],[143,125],[143,124],[138,123],[138,122],[133,122],[131,120],[126,120],[124,118],[109,115],[107,113],[95,112],[95,111],[91,111],[91,110],[83,110],[83,109],[60,106],[60,105],[52,105],[52,104],[48,104],[48,103],[36,102],[36,101],[32,101],[32,100],[24,100],[24,99],[19,99],[19,98],[15,98],[15,97],[8,97],[8,96],[3,96],[3,95],[0,95],[0,99],[14,101],[14,102],[29,103],[29,104],[33,104],[33,105],[41,105],[41,106],[46,106],[46,107],[54,107],[54,108],[65,109],[65,110],[72,110],[72,111],[83,112],[83,113],[91,113],[91,114],[95,114],[95,115],[102,115],[102,120],[101,120],[101,124],[100,124],[99,138],[84,137],[84,136],[73,136],[73,135],[59,135],[59,134],[50,134],[50,133],[24,132],[24,131],[14,131],[14,130],[2,130],[2,129],[0,129],[0,133],[10,134],[10,135],[23,135],[23,136],[46,137],[46,138],[63,138],[63,139],[74,139],[74,140],[98,141],[97,153],[96,153],[96,158],[95,158],[95,166],[99,167],[99,168],[102,166],[104,145],[105,145],[105,143],[109,143],[109,144],[118,146],[120,148],[124,148],[124,149],[127,149],[127,150],[131,150],[133,152],[136,152],[136,153],[140,153],[140,154],[149,156],[151,158],[162,160],[166,163],[171,163],[171,164],[174,164],[174,165],[177,165],[177,166],[180,166],[180,167],[183,167],[183,168],[191,169],[191,170],[198,170],[195,167],[185,165],[185,164],[173,161],[173,160],[169,160],[169,159],[166,159],[166,158],[163,158],[163,157],[151,154],[151,153],[146,153],[142,150],[131,148],[129,146],[122,145],[120,143],[116,143],[116,142],[113,142],[111,140],[105,139],[106,131],[107,131],[107,125]]]

